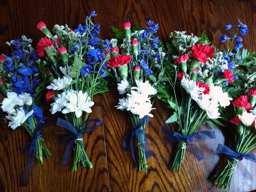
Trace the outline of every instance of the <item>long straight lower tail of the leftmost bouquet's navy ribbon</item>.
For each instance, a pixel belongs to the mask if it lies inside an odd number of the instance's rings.
[[[28,186],[28,184],[29,184],[29,177],[31,175],[31,172],[32,172],[32,169],[33,169],[33,166],[35,163],[37,150],[38,150],[38,142],[37,142],[37,140],[35,140],[34,142],[32,142],[30,150],[29,150],[28,159],[26,161],[25,169],[24,169],[22,179],[20,182],[21,187]]]

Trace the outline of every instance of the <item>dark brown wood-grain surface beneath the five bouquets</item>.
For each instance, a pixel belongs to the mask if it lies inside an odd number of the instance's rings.
[[[256,5],[247,0],[0,0],[0,53],[9,54],[5,44],[21,35],[34,40],[34,47],[42,33],[36,29],[39,21],[44,21],[48,29],[54,24],[68,24],[75,29],[84,24],[90,11],[98,14],[94,23],[101,24],[101,37],[113,38],[110,26],[119,29],[122,23],[130,21],[145,27],[146,20],[159,23],[157,35],[166,41],[173,31],[187,31],[200,35],[206,31],[210,41],[216,47],[224,48],[218,37],[229,35],[226,23],[238,24],[237,19],[248,25],[250,30],[243,37],[244,47],[256,50]],[[200,141],[196,144],[206,157],[198,162],[188,149],[180,174],[170,171],[176,144],[166,142],[161,132],[166,119],[172,115],[166,104],[154,102],[157,110],[150,118],[145,134],[152,150],[148,159],[148,175],[139,172],[134,164],[131,152],[123,150],[125,134],[132,130],[128,113],[114,108],[119,94],[112,88],[104,96],[95,96],[91,119],[101,119],[103,125],[95,132],[84,134],[86,152],[93,163],[93,169],[79,168],[71,173],[72,161],[66,166],[61,163],[67,144],[61,143],[61,134],[66,129],[56,126],[60,113],[51,115],[49,103],[42,102],[45,108],[47,126],[43,137],[52,157],[44,160],[37,169],[34,165],[29,186],[19,187],[27,154],[22,146],[29,143],[30,137],[24,129],[12,130],[3,121],[0,122],[0,192],[218,192],[218,188],[207,177],[225,161],[224,155],[215,152],[218,143],[226,145],[233,141],[230,131],[201,125],[198,131],[214,130],[215,140]],[[173,126],[173,125],[168,125]],[[177,129],[176,129],[177,130]],[[256,150],[253,151],[256,154]],[[233,176],[230,192],[246,192],[256,189],[256,163],[243,160]]]

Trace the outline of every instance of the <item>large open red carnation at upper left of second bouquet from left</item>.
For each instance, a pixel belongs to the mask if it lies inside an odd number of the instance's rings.
[[[58,45],[61,44],[58,38],[56,39],[56,42]],[[38,53],[39,57],[46,57],[45,48],[50,48],[50,47],[54,47],[56,49],[55,42],[52,39],[41,38],[37,46],[35,47],[35,52]]]

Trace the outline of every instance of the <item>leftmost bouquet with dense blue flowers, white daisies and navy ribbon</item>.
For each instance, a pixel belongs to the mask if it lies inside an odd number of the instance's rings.
[[[42,108],[38,107],[44,84],[52,79],[47,73],[45,63],[31,46],[32,40],[22,36],[21,39],[6,42],[12,48],[12,56],[0,56],[0,100],[4,112],[3,119],[15,130],[23,127],[32,137],[32,141],[23,146],[29,153],[20,186],[27,186],[35,159],[38,168],[43,158],[51,156],[41,135],[44,128]]]

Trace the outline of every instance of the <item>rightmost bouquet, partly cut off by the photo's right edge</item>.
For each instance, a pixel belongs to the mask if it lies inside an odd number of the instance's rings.
[[[229,189],[230,183],[235,172],[237,164],[244,158],[256,163],[255,156],[250,153],[256,148],[256,54],[248,52],[247,49],[240,51],[242,38],[237,36],[238,32],[241,35],[247,35],[249,30],[244,23],[239,20],[239,25],[227,24],[226,29],[232,29],[232,37],[222,35],[219,40],[227,42],[227,49],[224,51],[224,56],[236,65],[245,67],[247,74],[244,75],[240,70],[235,73],[239,76],[239,80],[234,81],[226,87],[227,92],[234,98],[232,106],[227,109],[221,109],[221,117],[226,126],[230,126],[227,122],[231,122],[231,130],[234,133],[234,142],[231,148],[218,144],[216,151],[227,154],[227,162],[218,169],[210,180],[213,183],[219,184],[220,189]],[[231,41],[231,43],[229,42]],[[236,53],[232,52],[235,47]]]

